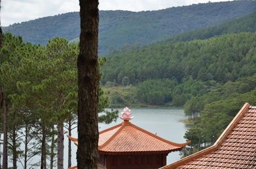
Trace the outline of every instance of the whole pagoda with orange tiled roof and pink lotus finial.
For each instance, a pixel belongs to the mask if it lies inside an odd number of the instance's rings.
[[[170,142],[132,124],[131,110],[127,107],[120,118],[124,122],[99,132],[98,169],[161,168],[170,152],[180,151],[190,143]],[[78,144],[77,138],[68,138]]]

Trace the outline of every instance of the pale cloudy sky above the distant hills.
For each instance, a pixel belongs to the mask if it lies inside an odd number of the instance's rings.
[[[227,0],[213,0],[219,2]],[[99,0],[100,10],[148,11],[208,3],[209,0]],[[79,0],[1,0],[1,26],[79,11]]]

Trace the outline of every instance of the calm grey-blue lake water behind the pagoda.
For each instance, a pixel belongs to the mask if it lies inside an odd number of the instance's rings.
[[[132,119],[130,122],[146,129],[151,133],[157,133],[158,136],[175,143],[184,143],[186,140],[183,138],[184,133],[188,126],[181,122],[186,119],[184,117],[183,108],[130,108],[132,112]],[[122,112],[123,108],[116,108],[118,112]],[[120,116],[120,113],[119,113]],[[99,131],[111,128],[116,124],[120,124],[122,119],[118,118],[116,122],[111,124],[99,124]],[[77,137],[76,131],[72,136]],[[67,147],[68,138],[65,137],[65,154],[64,154],[64,168],[67,168]],[[72,143],[72,166],[76,165],[76,145]],[[179,152],[171,152],[167,157],[167,164],[180,159]]]

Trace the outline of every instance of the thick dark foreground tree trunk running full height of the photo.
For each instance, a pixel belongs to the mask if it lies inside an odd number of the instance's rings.
[[[80,52],[77,58],[78,73],[78,169],[97,169],[99,102],[98,26],[99,1],[79,0]]]

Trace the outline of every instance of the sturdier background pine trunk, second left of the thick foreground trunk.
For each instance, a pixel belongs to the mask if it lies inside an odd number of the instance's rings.
[[[63,157],[64,157],[64,131],[63,123],[57,125],[58,128],[58,169],[63,169]]]

